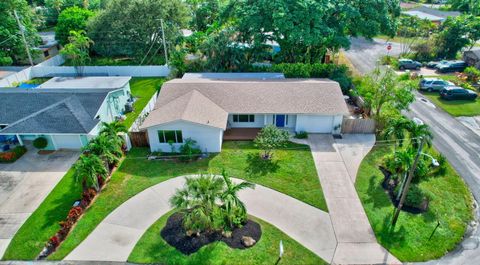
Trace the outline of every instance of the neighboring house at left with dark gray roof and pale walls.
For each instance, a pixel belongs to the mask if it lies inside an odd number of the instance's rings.
[[[122,115],[130,77],[52,78],[36,89],[0,89],[0,136],[24,144],[39,136],[47,150],[80,149],[101,122]]]

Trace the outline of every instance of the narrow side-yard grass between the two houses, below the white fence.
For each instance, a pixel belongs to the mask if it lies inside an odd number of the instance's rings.
[[[158,77],[133,77],[130,80],[130,91],[137,100],[133,103],[133,111],[127,113],[127,118],[123,121],[127,128],[132,126],[148,101],[150,101],[155,92],[160,90],[163,82],[165,82],[165,78]]]

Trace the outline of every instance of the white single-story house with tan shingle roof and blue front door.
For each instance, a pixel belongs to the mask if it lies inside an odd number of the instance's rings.
[[[152,151],[196,140],[220,152],[232,131],[272,124],[290,132],[340,133],[348,113],[340,85],[327,79],[174,79],[163,84],[141,125]]]

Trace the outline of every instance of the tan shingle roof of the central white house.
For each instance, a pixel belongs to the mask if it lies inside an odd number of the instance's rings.
[[[348,109],[339,84],[327,79],[174,79],[163,84],[142,128],[183,119],[224,129],[228,113],[342,115]]]

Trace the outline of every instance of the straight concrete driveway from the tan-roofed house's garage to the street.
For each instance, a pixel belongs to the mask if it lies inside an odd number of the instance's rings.
[[[375,143],[374,135],[309,135],[308,144],[322,184],[338,246],[333,264],[401,264],[377,243],[354,182]]]

